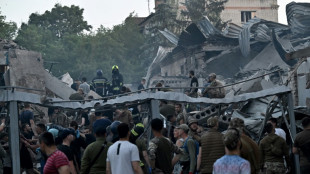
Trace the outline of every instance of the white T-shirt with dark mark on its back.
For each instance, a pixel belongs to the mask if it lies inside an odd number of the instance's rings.
[[[107,161],[112,174],[134,174],[131,162],[140,161],[138,148],[128,141],[117,141],[109,147]]]

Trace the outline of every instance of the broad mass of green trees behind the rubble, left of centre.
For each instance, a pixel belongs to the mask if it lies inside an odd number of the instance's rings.
[[[64,11],[68,14],[82,13],[75,15],[79,19],[47,25],[51,21],[62,21],[64,18],[59,13],[63,14]],[[75,79],[85,76],[90,81],[96,70],[102,69],[104,76],[110,79],[111,67],[116,64],[120,67],[125,83],[139,82],[146,71],[142,68],[143,60],[138,57],[145,38],[139,32],[133,14],[112,29],[101,26],[89,34],[82,33],[91,27],[84,25],[87,22],[83,22],[82,15],[83,10],[76,6],[61,7],[56,4],[51,12],[31,14],[28,24],[22,24],[18,31],[16,41],[29,50],[41,52],[45,61],[59,62],[52,69],[55,76],[69,72]],[[83,24],[84,27],[73,30],[75,27],[69,26],[72,23],[76,23],[74,26]],[[46,63],[45,66],[49,69],[50,64]]]

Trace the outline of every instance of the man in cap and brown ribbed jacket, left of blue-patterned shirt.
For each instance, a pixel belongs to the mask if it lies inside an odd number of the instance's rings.
[[[210,128],[201,136],[201,147],[198,155],[198,166],[200,173],[211,174],[214,162],[225,155],[223,134],[218,131],[218,117],[210,117],[207,120]]]

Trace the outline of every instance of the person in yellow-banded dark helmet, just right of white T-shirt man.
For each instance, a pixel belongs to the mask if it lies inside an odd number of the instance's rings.
[[[135,125],[134,128],[130,131],[129,142],[135,144],[139,150],[139,157],[140,157],[140,167],[143,170],[143,173],[149,172],[149,157],[147,155],[147,147],[146,147],[146,139],[141,137],[144,132],[144,126],[142,123],[138,123]]]

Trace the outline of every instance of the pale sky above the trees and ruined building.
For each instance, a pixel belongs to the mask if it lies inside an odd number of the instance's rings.
[[[150,1],[150,10],[154,11],[154,0]],[[279,22],[287,24],[285,6],[292,0],[278,0]],[[309,2],[310,0],[295,0],[295,2]],[[27,22],[31,13],[44,13],[51,10],[56,3],[61,5],[78,5],[84,9],[84,19],[93,29],[100,25],[113,27],[122,23],[125,18],[135,12],[139,17],[149,15],[148,0],[0,0],[1,14],[6,21],[14,21],[18,26]]]

